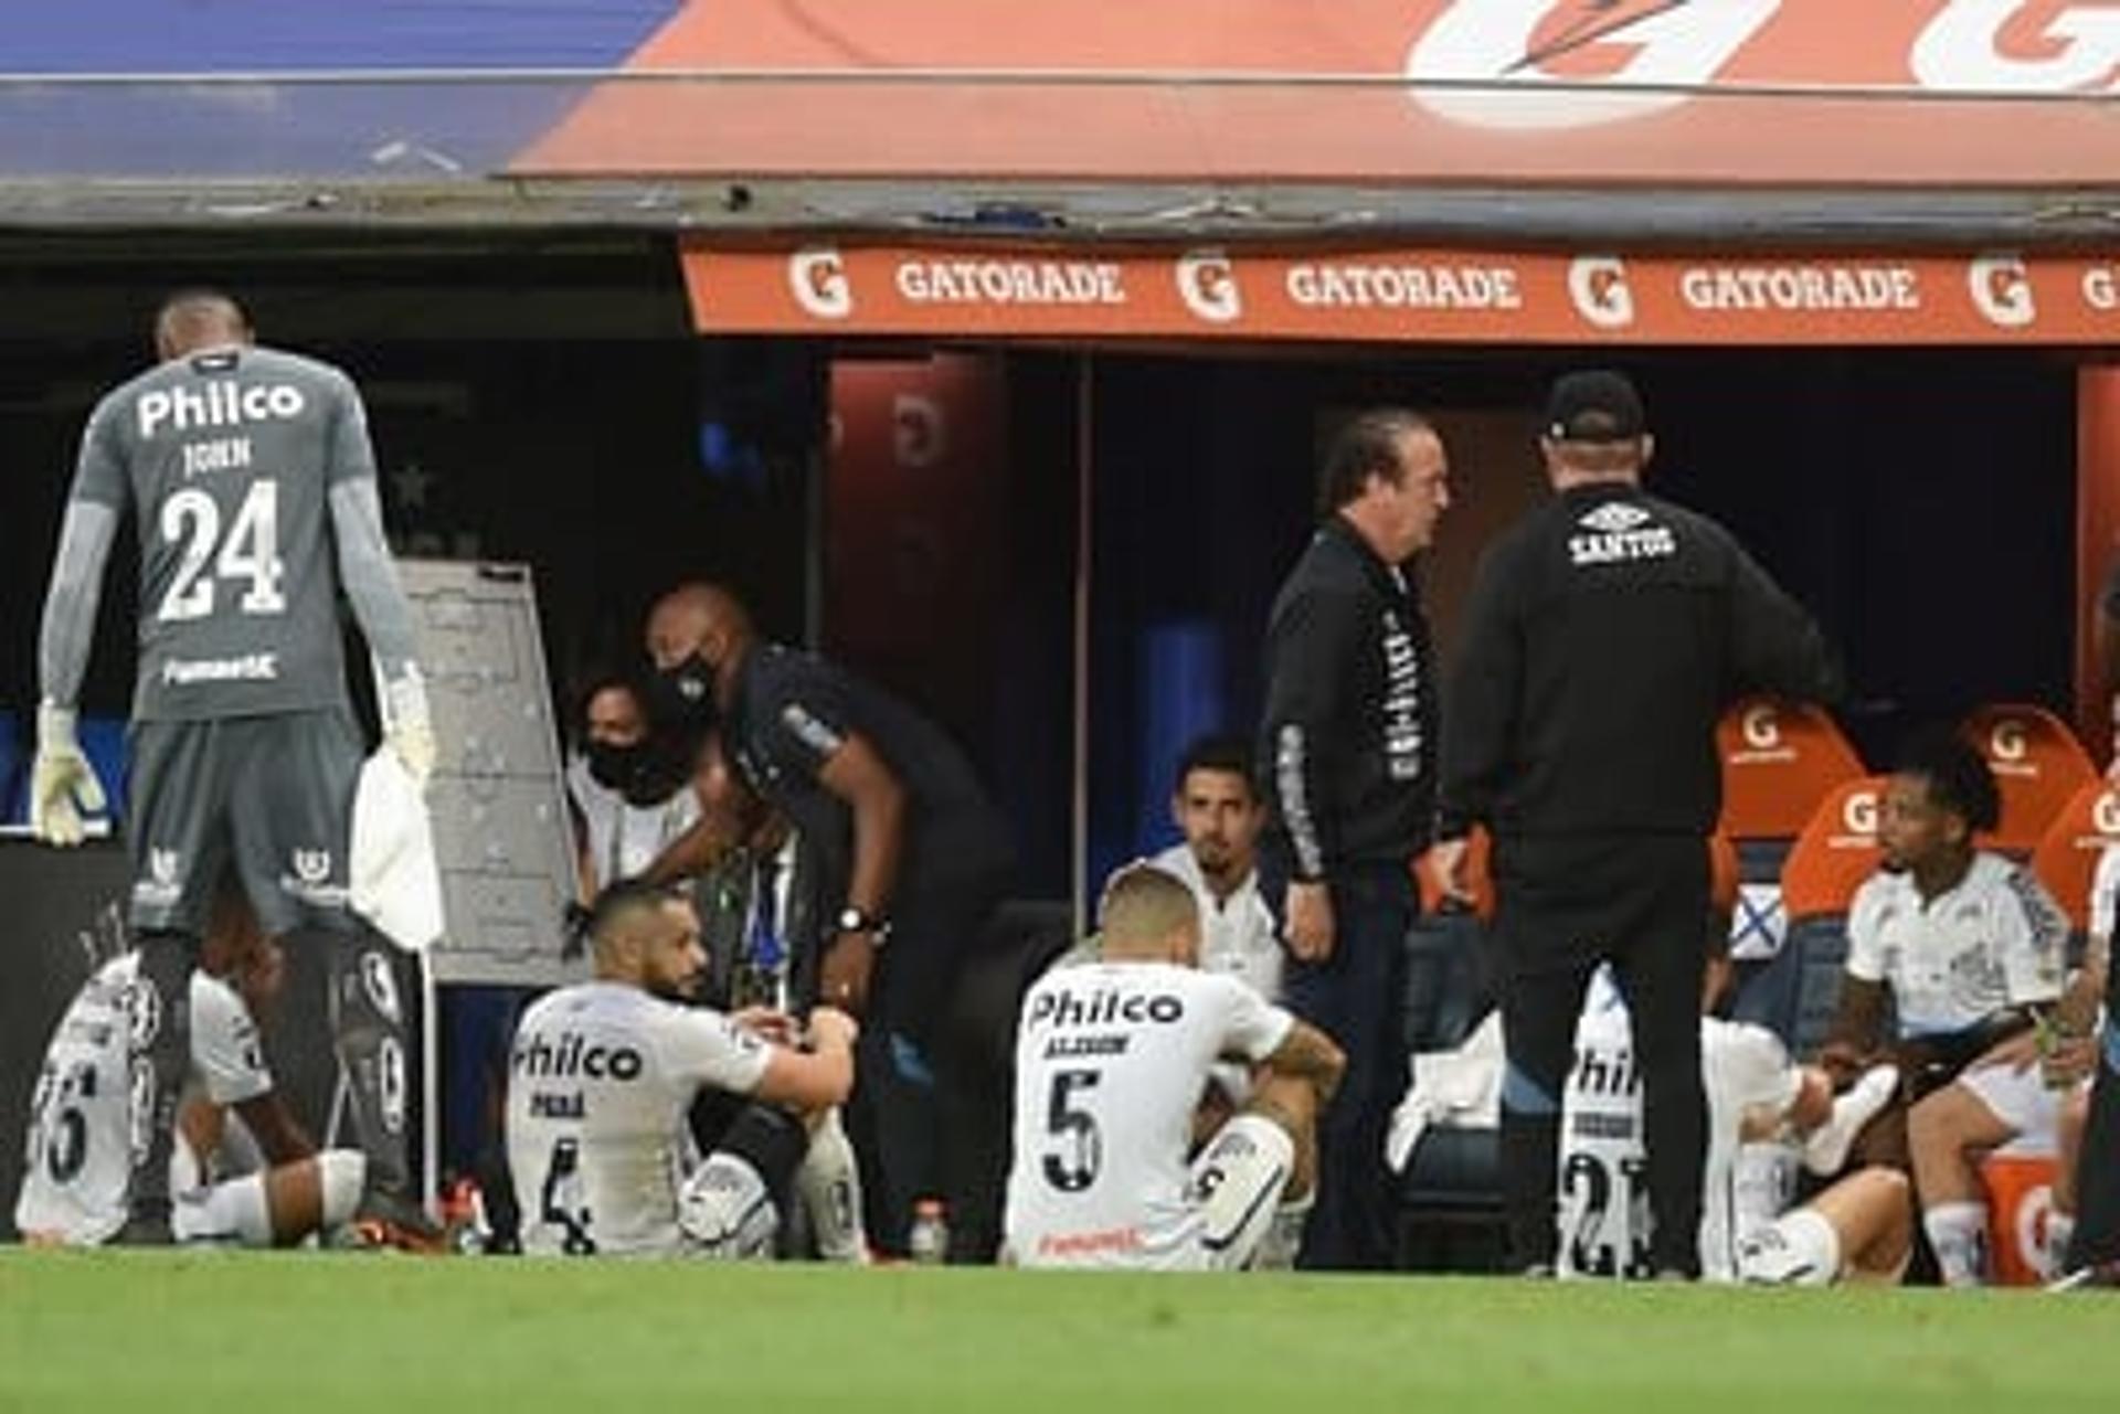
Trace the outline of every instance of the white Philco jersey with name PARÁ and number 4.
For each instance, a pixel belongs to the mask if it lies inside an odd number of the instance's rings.
[[[509,1062],[509,1174],[526,1253],[676,1253],[702,1088],[750,1094],[770,1047],[706,1007],[619,982],[524,1011]]]

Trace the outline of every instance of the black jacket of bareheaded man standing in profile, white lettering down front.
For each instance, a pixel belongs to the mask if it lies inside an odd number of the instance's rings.
[[[1333,515],[1266,625],[1259,770],[1295,878],[1403,865],[1427,848],[1435,727],[1418,594]]]

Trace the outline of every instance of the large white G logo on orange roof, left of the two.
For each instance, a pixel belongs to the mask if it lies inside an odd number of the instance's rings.
[[[1429,112],[1473,127],[1618,123],[1715,83],[1779,8],[1781,0],[1456,0],[1414,40],[1406,76],[1492,85],[1414,89]],[[1647,85],[1658,91],[1641,91]]]

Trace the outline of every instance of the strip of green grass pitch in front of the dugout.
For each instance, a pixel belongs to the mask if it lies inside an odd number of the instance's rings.
[[[2103,1293],[0,1251],[0,1412],[2112,1408]]]

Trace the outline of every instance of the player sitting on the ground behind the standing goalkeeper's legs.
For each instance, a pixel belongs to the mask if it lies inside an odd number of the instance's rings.
[[[15,1202],[25,1242],[95,1247],[125,1225],[136,1119],[125,1041],[134,1005],[151,996],[136,988],[138,969],[138,952],[106,962],[74,994],[45,1049],[30,1102],[30,1164]],[[227,876],[191,973],[191,1079],[167,1179],[178,1242],[288,1244],[346,1223],[360,1204],[367,1160],[346,1149],[318,1153],[265,1068],[252,1007],[278,992],[280,973],[280,948]],[[248,1168],[229,1162],[240,1145],[223,1141],[235,1134],[254,1143],[265,1168],[227,1177]]]

